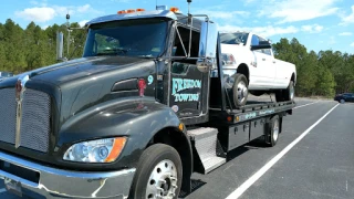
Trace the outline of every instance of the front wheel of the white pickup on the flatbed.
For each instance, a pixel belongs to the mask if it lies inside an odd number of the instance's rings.
[[[233,75],[232,100],[236,107],[244,106],[248,98],[248,81],[243,74]]]

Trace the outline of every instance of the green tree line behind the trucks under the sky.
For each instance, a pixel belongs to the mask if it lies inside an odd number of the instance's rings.
[[[71,28],[80,28],[71,23]],[[66,24],[53,24],[44,30],[31,22],[22,29],[11,19],[0,23],[0,71],[14,74],[56,63],[56,32],[66,35]],[[84,30],[71,32],[69,57],[80,57],[85,40]],[[354,92],[354,55],[340,51],[308,52],[296,39],[281,39],[272,44],[277,59],[296,65],[298,96],[330,96]]]

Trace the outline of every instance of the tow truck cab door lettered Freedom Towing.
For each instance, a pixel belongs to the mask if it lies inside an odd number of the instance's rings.
[[[189,29],[178,28],[185,50],[189,46]],[[190,56],[198,56],[199,33],[192,32]],[[185,50],[176,35],[173,56],[185,56]],[[197,69],[197,60],[176,59],[170,63],[169,106],[179,117],[196,117],[207,112],[209,72]]]

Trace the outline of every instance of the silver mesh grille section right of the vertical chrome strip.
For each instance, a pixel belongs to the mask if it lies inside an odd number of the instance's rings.
[[[48,151],[50,109],[51,101],[48,94],[29,88],[24,91],[22,101],[21,147],[42,153]]]

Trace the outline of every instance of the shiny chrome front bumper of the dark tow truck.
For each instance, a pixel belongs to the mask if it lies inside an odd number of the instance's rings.
[[[0,178],[14,181],[23,192],[33,192],[45,198],[126,198],[135,168],[119,171],[93,172],[69,171],[28,161],[0,151],[0,164],[14,165],[39,174],[39,181],[31,181],[1,170]]]

